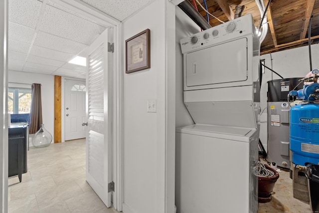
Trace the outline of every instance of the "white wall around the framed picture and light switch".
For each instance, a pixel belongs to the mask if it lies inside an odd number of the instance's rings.
[[[151,68],[123,77],[124,213],[173,213],[174,21],[173,5],[154,0],[123,22],[123,42],[151,30]],[[147,112],[149,99],[157,101],[156,113]]]

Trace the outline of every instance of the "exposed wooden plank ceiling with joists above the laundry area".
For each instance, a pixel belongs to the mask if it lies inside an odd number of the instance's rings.
[[[188,0],[193,5],[193,0]],[[196,1],[195,1],[196,2]],[[204,6],[203,0],[198,0]],[[265,7],[268,0],[264,0]],[[206,20],[206,12],[197,4]],[[251,13],[256,28],[261,15],[255,0],[206,0],[208,11],[222,21],[233,18],[237,5],[245,6],[242,15]],[[308,26],[311,19],[311,42],[319,42],[319,0],[272,0],[267,10],[269,29],[261,44],[261,54],[308,45]],[[209,15],[209,23],[220,22]]]

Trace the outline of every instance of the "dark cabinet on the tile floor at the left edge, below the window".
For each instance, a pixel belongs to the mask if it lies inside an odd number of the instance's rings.
[[[8,133],[8,177],[17,175],[21,182],[22,173],[27,172],[28,127],[27,125],[9,126]]]

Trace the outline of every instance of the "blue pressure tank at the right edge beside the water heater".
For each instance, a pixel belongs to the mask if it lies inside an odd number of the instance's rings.
[[[294,164],[319,164],[319,104],[290,109],[290,149]]]

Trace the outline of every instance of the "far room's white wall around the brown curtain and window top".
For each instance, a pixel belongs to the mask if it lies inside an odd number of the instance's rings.
[[[32,84],[39,83],[41,87],[42,99],[42,121],[44,128],[54,139],[54,75],[43,75],[30,72],[8,71],[8,82]],[[32,135],[30,135],[29,145],[32,146]]]

